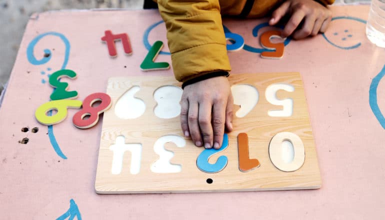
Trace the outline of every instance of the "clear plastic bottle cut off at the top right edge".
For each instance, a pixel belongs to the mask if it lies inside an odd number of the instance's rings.
[[[385,0],[371,0],[366,36],[377,46],[385,47]]]

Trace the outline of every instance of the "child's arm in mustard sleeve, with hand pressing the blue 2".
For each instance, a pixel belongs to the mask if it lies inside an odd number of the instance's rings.
[[[183,82],[180,123],[195,145],[220,148],[232,129],[232,95],[218,0],[158,0],[175,78]]]

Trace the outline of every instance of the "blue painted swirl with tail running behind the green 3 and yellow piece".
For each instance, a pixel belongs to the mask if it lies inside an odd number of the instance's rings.
[[[46,33],[42,33],[42,34],[36,36],[28,44],[28,47],[27,47],[27,50],[26,50],[26,55],[27,55],[28,61],[31,64],[33,64],[33,65],[42,65],[42,64],[45,64],[45,63],[49,62],[49,60],[52,57],[52,52],[49,49],[44,49],[43,50],[44,54],[43,54],[43,57],[41,59],[37,59],[34,56],[34,47],[35,47],[35,45],[37,44],[37,42],[40,39],[42,39],[43,37],[48,36],[48,35],[59,37],[63,41],[63,43],[65,45],[64,61],[63,61],[63,64],[61,65],[61,69],[64,69],[67,66],[68,59],[69,59],[70,43],[69,43],[68,39],[63,34],[58,33],[58,32],[46,32]],[[48,115],[52,115],[52,111],[49,111]],[[53,149],[57,153],[57,155],[59,155],[63,159],[66,159],[67,157],[61,151],[61,149],[60,149],[60,147],[59,147],[59,145],[58,145],[58,143],[56,141],[56,137],[55,137],[55,135],[53,133],[53,125],[48,125],[48,137],[49,137],[49,141],[50,141]]]

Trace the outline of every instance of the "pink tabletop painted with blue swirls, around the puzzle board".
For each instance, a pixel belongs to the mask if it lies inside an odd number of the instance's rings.
[[[0,218],[385,218],[385,79],[381,80],[385,49],[365,36],[368,9],[332,7],[334,18],[327,32],[286,41],[280,60],[260,58],[258,36],[268,28],[263,27],[266,19],[223,21],[247,44],[229,53],[232,74],[301,73],[322,177],[320,189],[131,195],[94,192],[101,123],[77,129],[71,124],[73,110],[66,120],[48,128],[35,120],[34,110],[52,92],[47,75],[61,68],[78,74],[75,80],[63,80],[79,92],[80,100],[104,92],[111,76],[172,75],[172,69],[139,69],[147,53],[143,42],[166,42],[164,23],[156,10],[33,15],[0,108]],[[253,36],[254,27],[261,28],[255,31],[258,36]],[[118,56],[109,57],[106,45],[100,42],[107,29],[129,35],[131,56],[124,55],[119,44]],[[44,49],[50,55],[42,59]],[[158,60],[170,62],[170,56],[160,54]],[[22,127],[38,127],[39,131],[22,132]],[[24,137],[29,142],[19,143]]]

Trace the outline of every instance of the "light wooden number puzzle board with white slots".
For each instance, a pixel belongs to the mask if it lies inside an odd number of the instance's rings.
[[[209,158],[209,163],[212,164],[217,161],[219,156],[225,155],[228,159],[227,165],[221,171],[209,173],[203,172],[197,167],[197,157],[204,148],[194,146],[189,138],[185,138],[186,143],[183,147],[177,147],[171,142],[164,145],[166,150],[174,152],[170,163],[181,164],[180,172],[172,172],[172,170],[167,171],[165,169],[153,171],[151,168],[154,162],[160,160],[159,155],[156,153],[159,151],[154,150],[155,141],[166,135],[183,136],[180,129],[179,115],[164,119],[154,114],[155,107],[161,104],[157,103],[161,99],[155,101],[153,97],[155,91],[160,87],[179,85],[172,76],[109,78],[107,94],[112,98],[112,108],[116,108],[116,103],[120,97],[135,86],[139,86],[140,90],[135,93],[134,97],[143,100],[146,108],[141,116],[134,119],[119,118],[118,114],[115,114],[115,109],[105,112],[96,172],[96,192],[143,193],[319,188],[321,179],[318,161],[299,73],[236,74],[230,76],[229,80],[235,86],[253,86],[257,89],[259,98],[255,106],[245,116],[234,116],[234,130],[228,133],[228,147]],[[269,110],[282,110],[283,107],[269,103],[265,97],[266,88],[277,84],[291,85],[294,88],[294,91],[290,92],[283,89],[276,92],[278,99],[293,100],[291,116],[268,115]],[[167,93],[164,94],[163,99],[167,98],[166,95]],[[248,98],[245,98],[245,101],[241,101],[239,100],[239,95],[235,95],[234,102],[242,102],[243,104],[245,102],[253,102],[253,94],[251,92],[244,92],[242,96]],[[177,103],[178,101],[162,105],[175,106],[176,104],[177,106]],[[128,107],[132,109],[138,108],[135,105]],[[236,110],[239,110],[239,106]],[[280,132],[295,133],[303,142],[305,151],[304,163],[295,171],[281,171],[270,160],[270,140],[275,134]],[[239,133],[246,133],[248,135],[249,157],[257,158],[260,163],[259,167],[246,172],[240,171],[238,166],[237,136]],[[129,151],[125,152],[123,154],[121,172],[112,173],[112,161],[115,155],[110,146],[115,144],[117,136],[124,136],[125,143],[141,143],[142,150],[141,156],[140,154],[132,154]],[[124,145],[121,145],[121,147],[123,148]],[[283,153],[285,153],[284,150],[282,150]],[[299,152],[294,152],[295,154],[299,154]],[[130,166],[133,165],[131,161],[138,159],[134,158],[135,156],[141,160],[140,170],[132,174],[130,172]],[[207,179],[211,179],[212,183],[207,183]]]

